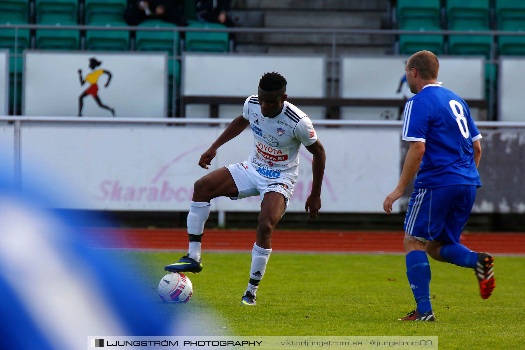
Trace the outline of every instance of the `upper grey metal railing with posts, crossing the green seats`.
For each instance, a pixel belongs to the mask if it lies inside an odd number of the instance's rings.
[[[525,31],[502,31],[502,30],[481,30],[481,31],[464,31],[464,30],[400,30],[400,29],[313,29],[313,28],[199,28],[199,27],[128,27],[128,26],[122,26],[122,27],[106,27],[106,26],[85,26],[85,25],[78,25],[78,26],[50,26],[50,25],[33,25],[33,24],[13,24],[13,25],[0,25],[1,29],[14,29],[15,31],[15,40],[14,40],[14,50],[12,53],[10,53],[10,57],[22,57],[23,55],[18,53],[17,49],[19,46],[18,42],[18,36],[20,30],[33,30],[33,29],[51,29],[51,30],[116,30],[116,31],[174,31],[174,32],[180,32],[180,33],[186,33],[190,31],[201,31],[201,32],[228,32],[228,33],[280,33],[280,34],[324,34],[327,36],[331,36],[332,44],[331,44],[331,55],[327,58],[327,61],[330,63],[330,76],[329,79],[332,81],[336,79],[336,70],[337,67],[335,63],[338,62],[339,58],[337,55],[337,47],[338,47],[338,36],[344,35],[344,34],[351,34],[351,35],[387,35],[387,36],[398,36],[398,35],[487,35],[491,37],[491,49],[490,49],[490,57],[486,61],[487,63],[490,63],[493,66],[498,65],[497,61],[497,50],[498,50],[498,44],[496,41],[496,38],[500,35],[505,36],[525,36]],[[174,36],[176,37],[176,36]],[[174,40],[173,43],[173,52],[177,52],[176,48],[178,46],[178,43],[176,43],[176,40]],[[173,59],[173,65],[175,66],[175,61],[181,60],[181,56],[174,56],[169,57],[169,59]],[[18,67],[17,66],[17,60],[14,60],[14,69]],[[174,67],[175,69],[175,67]],[[496,91],[495,91],[495,81],[496,77],[493,77],[490,75],[490,81],[489,81],[489,99],[488,99],[488,119],[489,120],[496,120]],[[14,88],[14,101],[16,101],[16,84],[17,80],[15,79],[15,88]],[[176,89],[176,77],[173,76],[173,106],[172,106],[172,115],[176,115],[176,99],[179,96],[178,95],[178,89]],[[335,84],[331,84],[331,91],[330,96],[331,98],[334,98],[337,96],[337,92],[335,89]],[[370,100],[374,101],[374,100]],[[340,101],[342,102],[342,101]],[[349,102],[351,103],[351,102]],[[323,104],[325,105],[325,104]],[[359,105],[359,104],[358,104]],[[375,104],[372,104],[375,105]],[[394,104],[396,105],[396,104]],[[13,114],[17,114],[19,112],[17,110],[16,104],[14,106]]]

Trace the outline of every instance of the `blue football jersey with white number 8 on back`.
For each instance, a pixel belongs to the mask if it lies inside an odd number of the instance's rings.
[[[481,186],[472,142],[481,139],[467,104],[439,84],[406,102],[402,139],[425,142],[416,188]]]

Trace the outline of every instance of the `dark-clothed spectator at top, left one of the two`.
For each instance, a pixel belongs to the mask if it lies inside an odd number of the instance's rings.
[[[183,24],[182,0],[129,0],[124,10],[124,20],[136,26],[147,18],[159,18],[164,22]]]

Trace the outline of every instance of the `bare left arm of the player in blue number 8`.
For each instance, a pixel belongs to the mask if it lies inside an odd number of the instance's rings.
[[[406,186],[414,175],[416,175],[417,169],[419,169],[419,165],[423,159],[423,154],[425,154],[425,143],[421,141],[411,141],[399,182],[394,192],[386,196],[383,202],[383,209],[386,211],[386,214],[391,213],[392,204],[403,195]]]

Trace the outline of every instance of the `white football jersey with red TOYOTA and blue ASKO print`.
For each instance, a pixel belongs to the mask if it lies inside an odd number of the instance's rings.
[[[285,101],[280,114],[266,118],[261,113],[257,95],[246,99],[243,117],[250,121],[254,147],[249,165],[263,177],[288,178],[296,183],[299,174],[299,147],[317,141],[312,121],[300,109]]]

